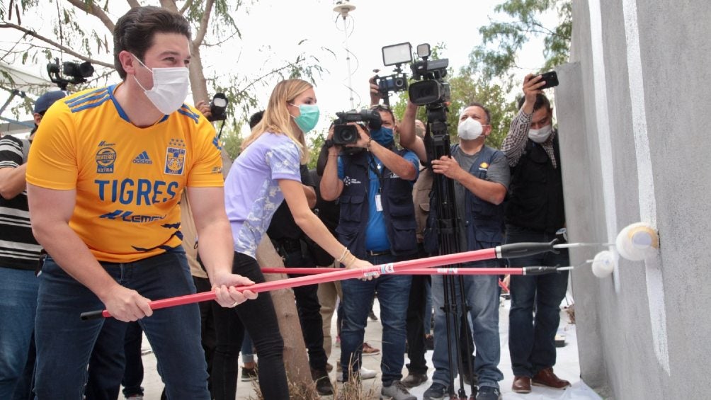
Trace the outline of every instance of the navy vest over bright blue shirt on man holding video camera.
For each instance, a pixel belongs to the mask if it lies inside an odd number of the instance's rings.
[[[407,150],[396,150],[402,156]],[[341,218],[336,228],[338,240],[358,257],[365,258],[365,228],[368,226],[368,161],[367,151],[343,156],[343,193],[341,193]],[[415,205],[412,202],[412,185],[409,181],[394,177],[383,166],[380,180],[380,195],[383,203],[383,220],[390,240],[390,252],[395,256],[407,256],[417,252],[417,222]]]

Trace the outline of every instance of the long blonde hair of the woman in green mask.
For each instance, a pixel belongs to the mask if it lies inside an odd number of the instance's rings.
[[[272,91],[272,96],[269,97],[269,104],[264,110],[262,121],[255,125],[252,129],[252,134],[242,143],[242,150],[257,140],[264,132],[273,132],[275,134],[285,134],[292,139],[296,146],[299,147],[301,155],[301,163],[305,164],[309,161],[309,148],[306,146],[306,135],[301,132],[301,129],[294,129],[292,124],[292,115],[289,114],[287,104],[293,103],[299,94],[311,89],[314,85],[300,79],[282,80],[277,83]]]

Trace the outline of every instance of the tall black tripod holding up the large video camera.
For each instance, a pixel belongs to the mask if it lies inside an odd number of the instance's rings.
[[[432,168],[432,161],[439,160],[442,156],[450,156],[449,134],[447,133],[447,106],[444,102],[427,104],[427,130],[424,136],[424,146],[427,151],[427,165]],[[435,212],[435,218],[429,218],[434,222],[434,232],[437,234],[439,242],[438,255],[453,254],[461,251],[459,242],[459,226],[456,217],[456,204],[454,196],[454,182],[439,173],[433,174],[432,182],[432,202],[429,212]],[[469,313],[469,306],[466,303],[466,293],[464,290],[464,276],[443,276],[444,287],[444,318],[447,328],[447,354],[449,359],[449,397],[450,399],[466,400],[466,389],[464,388],[464,374],[469,374],[471,382],[471,398],[476,397],[476,387],[474,386],[474,365],[468,360],[469,370],[464,371],[463,360],[459,345],[461,345],[460,325],[464,320],[464,332],[467,335],[464,341],[466,355],[471,355],[469,337],[471,330],[466,321]],[[455,281],[455,279],[457,281]],[[459,283],[459,298],[461,304],[456,301],[457,284]],[[464,316],[464,318],[461,318]],[[454,333],[454,343],[450,340],[451,333]],[[452,350],[456,354],[456,360],[452,359]],[[459,369],[459,392],[454,396],[454,362]]]

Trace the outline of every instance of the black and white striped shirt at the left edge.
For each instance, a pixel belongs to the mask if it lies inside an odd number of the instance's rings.
[[[22,141],[14,136],[0,138],[0,168],[22,165]],[[42,247],[32,235],[27,192],[10,200],[0,197],[0,266],[34,270]]]

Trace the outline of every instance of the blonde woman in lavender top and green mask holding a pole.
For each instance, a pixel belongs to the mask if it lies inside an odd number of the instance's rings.
[[[232,271],[240,271],[257,283],[264,281],[255,259],[257,245],[282,200],[286,200],[301,230],[346,268],[371,265],[348,252],[309,209],[299,164],[309,159],[304,134],[314,129],[318,120],[316,93],[309,82],[279,82],[262,121],[245,140],[225,180],[225,207],[235,239]],[[235,310],[255,343],[260,382],[268,382],[262,385],[262,394],[265,399],[287,399],[284,344],[272,299],[269,293],[262,293],[247,303]]]

